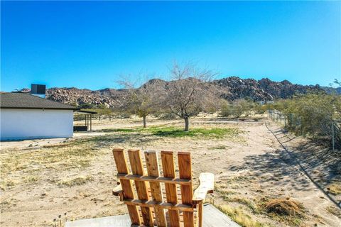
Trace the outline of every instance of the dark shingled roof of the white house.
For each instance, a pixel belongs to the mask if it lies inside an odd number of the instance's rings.
[[[79,108],[58,101],[43,99],[27,93],[1,93],[0,108],[3,109],[72,109]]]

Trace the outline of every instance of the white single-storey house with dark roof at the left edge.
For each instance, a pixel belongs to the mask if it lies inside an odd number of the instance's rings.
[[[27,93],[0,94],[0,139],[64,138],[73,135],[77,107]]]

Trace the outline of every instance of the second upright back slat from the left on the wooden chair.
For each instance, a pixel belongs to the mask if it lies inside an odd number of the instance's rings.
[[[131,172],[134,175],[144,175],[144,167],[140,156],[140,150],[128,150],[129,162],[131,165]],[[137,196],[141,200],[149,200],[146,182],[135,181]],[[153,226],[153,216],[151,209],[148,206],[141,206],[142,218],[144,219],[145,226]]]

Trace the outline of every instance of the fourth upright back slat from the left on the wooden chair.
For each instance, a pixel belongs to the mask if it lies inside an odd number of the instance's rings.
[[[163,167],[163,176],[175,178],[173,152],[161,151],[161,160],[162,160],[162,167]],[[167,202],[172,203],[172,204],[178,204],[176,184],[165,183],[165,189],[166,189]],[[168,213],[169,213],[171,226],[172,227],[180,226],[179,211],[170,209]]]

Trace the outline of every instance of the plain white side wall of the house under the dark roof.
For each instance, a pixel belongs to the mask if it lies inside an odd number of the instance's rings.
[[[72,110],[0,109],[1,140],[63,138],[72,135]]]

